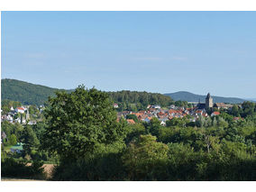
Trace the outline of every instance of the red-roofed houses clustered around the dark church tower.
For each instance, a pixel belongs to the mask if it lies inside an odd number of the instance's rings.
[[[191,108],[170,105],[169,109],[162,109],[160,105],[148,105],[146,111],[139,111],[137,113],[132,111],[123,111],[117,114],[117,118],[126,118],[127,114],[134,114],[137,116],[139,121],[149,123],[151,121],[151,118],[156,117],[160,120],[161,125],[166,125],[166,121],[171,120],[172,118],[183,118],[189,115],[190,121],[196,122],[200,116],[207,117],[208,109],[213,107],[216,107],[217,109],[230,109],[233,107],[233,105],[225,105],[224,103],[214,104],[212,97],[210,96],[210,94],[208,94],[206,96],[205,104],[198,103]],[[219,112],[215,111],[212,112],[210,115],[215,116],[219,114]],[[135,123],[133,119],[127,119],[127,122]]]

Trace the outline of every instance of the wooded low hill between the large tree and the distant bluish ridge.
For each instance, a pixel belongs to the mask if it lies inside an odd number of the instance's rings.
[[[108,94],[114,103],[119,105],[118,111],[138,111],[145,110],[148,105],[169,106],[173,104],[173,100],[169,96],[145,91],[117,91],[108,92]]]

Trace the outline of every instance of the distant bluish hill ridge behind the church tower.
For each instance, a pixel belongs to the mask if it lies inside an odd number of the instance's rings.
[[[187,102],[198,102],[198,100],[200,100],[202,103],[206,101],[206,96],[192,94],[187,91],[178,91],[172,94],[165,94],[165,96],[170,96],[175,101],[181,100],[181,101],[187,101]],[[215,103],[239,104],[245,101],[244,99],[235,98],[235,97],[221,97],[221,96],[212,96],[212,97]]]

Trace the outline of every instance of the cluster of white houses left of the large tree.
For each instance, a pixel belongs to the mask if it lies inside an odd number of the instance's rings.
[[[20,107],[12,106],[10,111],[7,114],[1,115],[1,122],[7,121],[9,123],[28,123],[28,124],[36,124],[36,121],[31,121],[30,114],[29,114],[29,107],[30,105],[23,105]],[[41,105],[38,109],[40,112],[43,111],[44,106]],[[1,110],[1,113],[3,111]],[[16,115],[16,114],[23,114],[23,115]]]

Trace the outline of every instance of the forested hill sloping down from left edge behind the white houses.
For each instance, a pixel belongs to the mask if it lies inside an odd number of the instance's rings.
[[[15,79],[1,80],[2,101],[5,99],[19,101],[23,105],[42,105],[48,96],[54,96],[58,88],[45,87]]]

